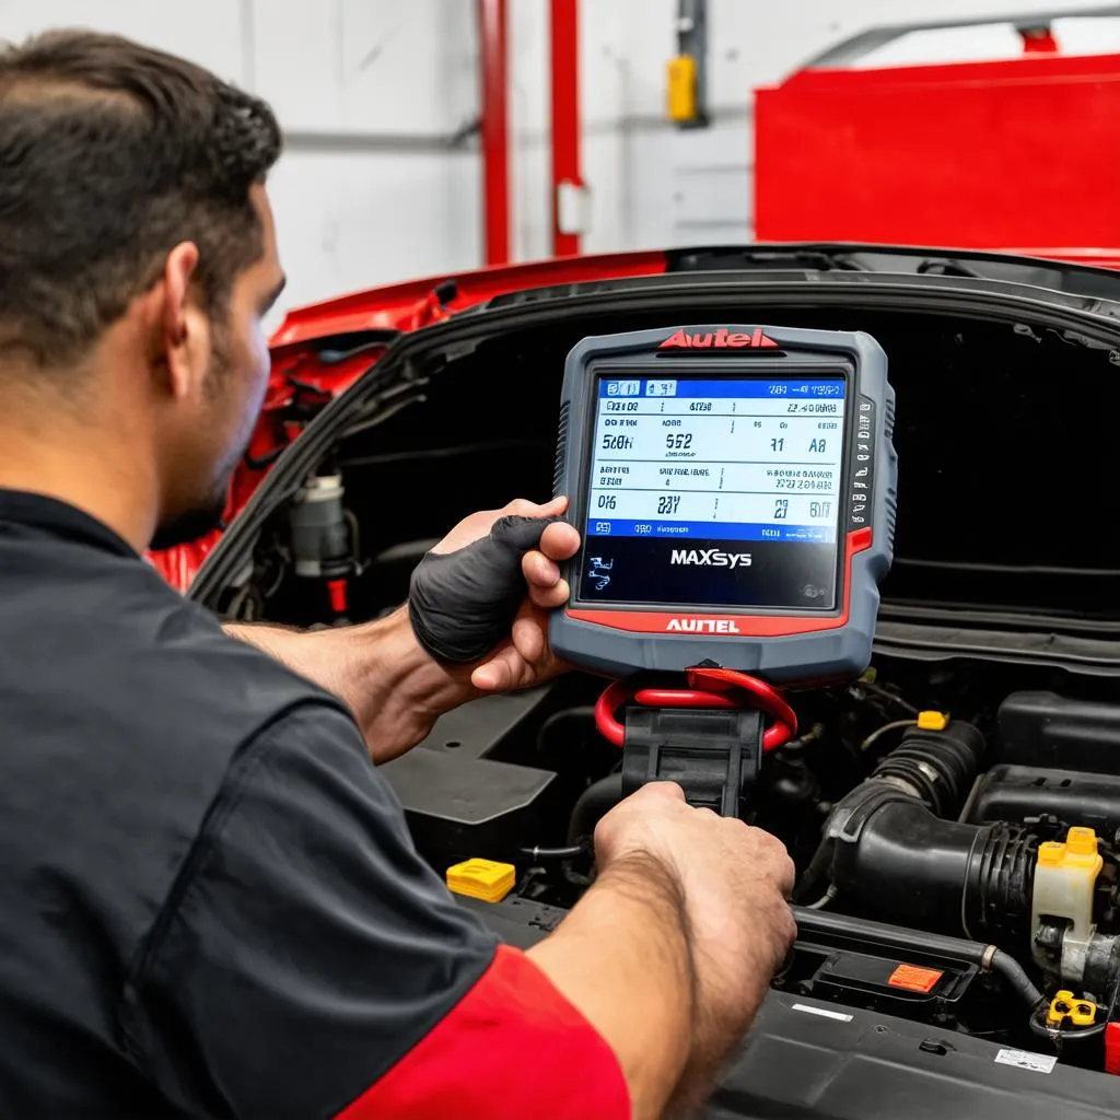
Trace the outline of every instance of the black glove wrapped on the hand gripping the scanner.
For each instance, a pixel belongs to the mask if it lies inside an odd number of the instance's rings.
[[[409,617],[437,661],[480,661],[510,636],[529,592],[521,560],[560,517],[500,517],[457,552],[429,552],[412,572]]]

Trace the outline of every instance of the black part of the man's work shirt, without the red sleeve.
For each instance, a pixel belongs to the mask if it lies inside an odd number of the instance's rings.
[[[337,700],[0,491],[0,1116],[335,1116],[494,955]]]

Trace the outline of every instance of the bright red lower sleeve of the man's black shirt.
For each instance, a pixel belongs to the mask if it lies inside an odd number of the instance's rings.
[[[606,1040],[520,950],[335,1120],[631,1120]]]

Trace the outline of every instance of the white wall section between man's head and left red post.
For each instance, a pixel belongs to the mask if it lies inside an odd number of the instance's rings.
[[[516,2],[516,0],[515,0]],[[115,31],[264,96],[287,136],[272,179],[283,307],[474,268],[480,161],[473,0],[0,0],[0,38]]]

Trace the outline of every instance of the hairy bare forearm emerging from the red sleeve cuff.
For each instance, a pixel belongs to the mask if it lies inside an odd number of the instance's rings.
[[[634,1120],[661,1117],[689,1060],[694,1002],[675,877],[652,857],[627,856],[529,955],[614,1049]]]

